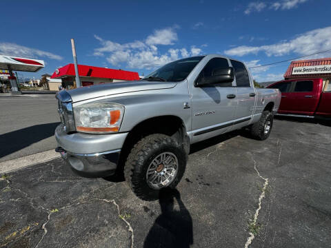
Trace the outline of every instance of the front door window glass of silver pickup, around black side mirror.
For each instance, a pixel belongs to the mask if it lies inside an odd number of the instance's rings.
[[[221,68],[228,68],[228,60],[223,58],[213,58],[208,61],[208,63],[205,65],[205,68],[200,72],[197,83],[203,83],[205,80],[213,76],[213,72],[215,70],[219,70]],[[215,84],[215,86],[218,87],[232,87],[232,83],[220,83]]]

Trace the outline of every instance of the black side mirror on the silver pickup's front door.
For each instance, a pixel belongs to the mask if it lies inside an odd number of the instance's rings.
[[[197,81],[196,85],[203,87],[203,85],[210,85],[216,83],[232,83],[234,81],[233,68],[219,68],[212,71],[212,76]]]

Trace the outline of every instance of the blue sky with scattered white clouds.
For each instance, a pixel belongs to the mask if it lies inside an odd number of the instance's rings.
[[[250,67],[331,49],[330,0],[6,1],[0,54],[43,59],[39,78],[72,63],[146,74],[185,56],[218,53]],[[331,52],[316,57],[331,56]],[[288,63],[252,70],[282,79]]]

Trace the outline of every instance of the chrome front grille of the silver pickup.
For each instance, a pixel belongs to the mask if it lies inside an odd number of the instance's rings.
[[[56,97],[58,99],[58,112],[62,130],[67,133],[76,131],[70,95],[66,91],[61,91]]]

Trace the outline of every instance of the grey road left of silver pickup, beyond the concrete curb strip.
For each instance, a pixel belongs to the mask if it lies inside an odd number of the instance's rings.
[[[55,94],[0,95],[0,163],[56,147],[59,125]]]

